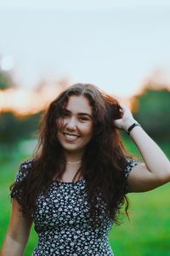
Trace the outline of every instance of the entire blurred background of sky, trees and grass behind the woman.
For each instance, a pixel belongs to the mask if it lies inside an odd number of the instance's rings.
[[[168,0],[0,0],[0,245],[8,187],[31,157],[44,109],[67,86],[93,83],[115,96],[169,158],[169,28]],[[110,234],[115,255],[169,255],[169,192],[129,195],[130,222],[122,216]],[[26,256],[36,242],[32,229]]]

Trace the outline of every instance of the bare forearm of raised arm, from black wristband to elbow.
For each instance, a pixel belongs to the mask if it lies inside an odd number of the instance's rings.
[[[169,174],[170,179],[170,162],[167,156],[162,152],[161,148],[147,135],[147,133],[139,126],[133,128],[130,132],[133,142],[139,148],[145,165],[150,172],[157,173],[158,176],[165,173]],[[168,176],[167,176],[168,177]]]

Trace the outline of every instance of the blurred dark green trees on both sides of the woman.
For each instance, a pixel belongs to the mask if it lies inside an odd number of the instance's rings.
[[[148,84],[144,90],[132,98],[134,118],[155,140],[170,139],[170,91],[155,90]],[[8,73],[0,72],[0,90],[14,86]],[[0,145],[14,148],[21,140],[37,137],[38,122],[42,112],[20,117],[12,112],[0,113]]]

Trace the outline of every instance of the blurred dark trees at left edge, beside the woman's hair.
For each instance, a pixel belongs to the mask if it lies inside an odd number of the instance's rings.
[[[15,87],[12,75],[0,70],[0,90]],[[14,149],[22,140],[37,138],[42,112],[20,116],[0,109],[0,148]]]

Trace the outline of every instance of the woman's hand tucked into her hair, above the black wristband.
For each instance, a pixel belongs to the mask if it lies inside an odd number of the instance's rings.
[[[137,123],[137,121],[133,118],[133,114],[130,109],[121,105],[122,119],[116,119],[114,124],[116,128],[127,131],[127,129],[133,125],[133,123]]]

